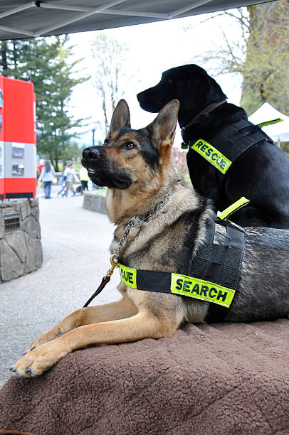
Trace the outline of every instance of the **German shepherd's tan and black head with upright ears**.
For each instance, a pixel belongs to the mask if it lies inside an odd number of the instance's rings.
[[[133,130],[127,102],[120,100],[104,145],[83,150],[81,163],[93,183],[133,193],[155,188],[169,162],[178,110],[179,102],[174,100],[147,127]]]

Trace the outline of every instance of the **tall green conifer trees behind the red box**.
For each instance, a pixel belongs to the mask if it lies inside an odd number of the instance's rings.
[[[83,121],[68,113],[73,88],[86,80],[74,78],[79,61],[69,63],[71,50],[68,36],[1,41],[1,74],[34,84],[38,154],[51,159],[56,171],[70,157],[70,130]]]

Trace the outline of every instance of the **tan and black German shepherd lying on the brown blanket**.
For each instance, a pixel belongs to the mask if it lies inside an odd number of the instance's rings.
[[[117,225],[111,252],[119,250],[120,264],[189,275],[189,262],[204,244],[215,213],[211,200],[178,180],[170,161],[178,110],[173,100],[151,124],[134,130],[127,103],[120,100],[104,146],[85,149],[82,163],[93,183],[108,187],[107,212]],[[127,222],[135,216],[146,218],[128,231]],[[216,225],[216,243],[225,232]],[[238,291],[225,320],[287,317],[289,231],[247,229],[244,246]],[[170,337],[184,322],[204,322],[211,302],[160,293],[161,284],[143,291],[121,282],[120,301],[70,314],[36,339],[12,372],[34,377],[76,349]]]

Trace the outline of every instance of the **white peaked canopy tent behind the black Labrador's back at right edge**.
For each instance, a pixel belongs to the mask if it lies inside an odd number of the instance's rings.
[[[280,144],[280,142],[289,141],[289,117],[274,109],[269,103],[264,103],[256,112],[248,117],[249,121],[253,122],[253,124],[260,124],[261,122],[278,118],[283,119],[283,121],[278,122],[278,124],[262,127],[262,129],[274,142]]]

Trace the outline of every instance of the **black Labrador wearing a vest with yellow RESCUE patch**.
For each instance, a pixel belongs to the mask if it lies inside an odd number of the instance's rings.
[[[213,199],[217,210],[248,198],[250,204],[233,215],[238,225],[289,228],[288,156],[241,107],[226,102],[203,68],[167,70],[156,86],[137,95],[148,112],[159,112],[174,99],[180,102],[178,121],[194,188]]]

